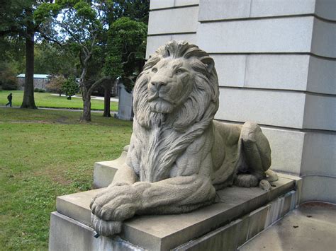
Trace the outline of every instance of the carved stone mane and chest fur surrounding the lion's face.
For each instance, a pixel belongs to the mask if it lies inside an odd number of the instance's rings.
[[[155,64],[167,58],[189,60],[194,71],[194,87],[189,98],[172,113],[155,113],[150,110],[148,102],[149,73]],[[147,146],[147,153],[142,155],[138,153],[138,156],[142,156],[140,158],[146,158],[140,161],[146,166],[135,167],[135,170],[138,169],[140,180],[150,182],[162,180],[167,178],[172,164],[179,155],[208,128],[218,110],[218,77],[213,59],[196,45],[184,41],[168,42],[159,47],[148,59],[135,82],[133,93],[135,115],[133,140],[138,141],[133,143],[143,145],[146,142],[144,137],[150,137],[150,132],[154,130],[157,132],[153,137],[155,139],[147,142],[150,144]],[[168,129],[172,129],[173,133],[169,134],[169,139],[162,139]]]

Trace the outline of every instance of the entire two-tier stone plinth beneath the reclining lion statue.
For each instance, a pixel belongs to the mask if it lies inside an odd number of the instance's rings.
[[[301,180],[279,177],[273,189],[228,187],[218,203],[189,214],[136,216],[120,236],[94,238],[89,203],[100,189],[57,197],[50,250],[235,250],[298,204]]]

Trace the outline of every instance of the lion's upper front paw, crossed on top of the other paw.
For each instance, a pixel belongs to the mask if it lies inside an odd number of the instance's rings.
[[[131,185],[108,187],[92,199],[92,214],[104,221],[124,221],[140,209],[139,194]]]

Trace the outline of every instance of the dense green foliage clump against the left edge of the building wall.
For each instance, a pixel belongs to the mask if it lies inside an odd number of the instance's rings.
[[[132,91],[134,79],[145,61],[147,25],[119,18],[108,30],[108,56],[105,72],[113,78],[120,76],[126,91]]]

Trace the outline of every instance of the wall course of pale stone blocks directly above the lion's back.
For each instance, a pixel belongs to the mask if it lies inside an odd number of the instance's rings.
[[[215,119],[233,122],[251,119],[259,124],[281,127],[336,130],[334,97],[222,87],[220,100],[223,101]]]

